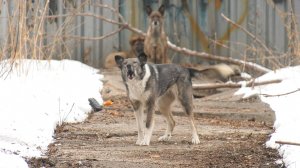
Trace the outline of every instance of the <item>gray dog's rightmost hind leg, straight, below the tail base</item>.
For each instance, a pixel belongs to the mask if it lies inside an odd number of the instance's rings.
[[[191,83],[184,82],[181,85],[178,85],[178,99],[189,117],[191,127],[192,127],[192,143],[199,144],[199,136],[197,133],[197,129],[194,123],[194,115],[193,115],[193,93],[192,93],[192,85]]]

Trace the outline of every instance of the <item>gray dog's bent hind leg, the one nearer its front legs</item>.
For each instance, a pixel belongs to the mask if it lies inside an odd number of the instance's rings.
[[[173,92],[168,91],[158,100],[158,108],[161,114],[165,117],[167,121],[167,129],[163,136],[159,137],[159,141],[168,141],[171,139],[173,129],[175,127],[175,121],[171,112],[171,105],[175,100],[175,95]]]

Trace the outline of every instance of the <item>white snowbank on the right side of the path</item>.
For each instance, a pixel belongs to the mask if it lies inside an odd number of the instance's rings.
[[[259,94],[262,101],[270,105],[276,115],[275,132],[266,145],[278,149],[286,166],[300,168],[300,146],[275,143],[275,141],[300,143],[300,91],[296,91],[300,89],[300,66],[276,70],[259,77],[257,80],[272,79],[282,79],[282,82],[258,86],[254,90],[241,88],[237,94],[243,93],[249,96]],[[290,94],[285,95],[285,93]],[[268,96],[263,96],[265,94]]]

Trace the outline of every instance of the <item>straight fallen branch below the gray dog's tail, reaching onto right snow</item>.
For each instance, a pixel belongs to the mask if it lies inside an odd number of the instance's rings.
[[[246,87],[250,86],[260,86],[260,85],[267,85],[271,83],[280,83],[282,80],[275,79],[275,80],[269,80],[269,81],[263,81],[263,82],[255,82],[255,80],[252,80],[250,82],[246,83]],[[198,90],[205,90],[205,89],[218,89],[218,88],[240,88],[243,84],[241,83],[210,83],[210,84],[193,84],[193,89]]]

